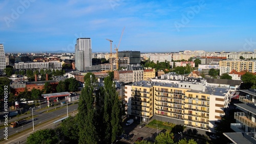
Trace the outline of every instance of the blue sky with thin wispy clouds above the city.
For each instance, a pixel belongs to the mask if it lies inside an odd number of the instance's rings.
[[[256,1],[0,1],[6,53],[74,52],[78,37],[92,51],[239,52],[256,49]],[[114,51],[114,46],[112,47]]]

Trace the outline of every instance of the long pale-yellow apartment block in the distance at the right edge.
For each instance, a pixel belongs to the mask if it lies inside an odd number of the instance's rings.
[[[256,72],[256,61],[245,60],[225,60],[220,61],[220,76],[224,73],[230,73],[232,69],[237,71],[247,70],[250,73]]]

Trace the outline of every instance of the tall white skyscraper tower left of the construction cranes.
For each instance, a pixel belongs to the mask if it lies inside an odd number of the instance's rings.
[[[79,71],[85,71],[92,66],[91,38],[77,38],[75,45],[75,67]]]

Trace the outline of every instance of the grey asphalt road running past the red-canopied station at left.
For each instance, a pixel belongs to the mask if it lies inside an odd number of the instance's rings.
[[[64,105],[62,106],[63,108],[61,109],[58,109],[58,110],[55,110],[55,111],[52,111],[52,112],[44,112],[44,113],[41,113],[41,112],[37,112],[35,110],[39,109],[38,107],[34,109],[34,126],[42,123],[42,122],[45,122],[45,121],[48,121],[49,119],[52,119],[52,118],[55,118],[55,117],[58,117],[60,115],[63,115],[65,113],[67,113],[67,105]],[[71,106],[68,106],[68,111],[73,111],[73,110],[77,110],[78,108],[78,104],[75,104],[75,105],[71,105]],[[31,113],[32,114],[32,113]],[[17,128],[11,128],[10,125],[8,125],[8,136],[12,135],[12,134],[15,134],[17,132],[20,132],[20,131],[23,131],[27,128],[32,128],[33,127],[33,123],[32,123],[32,116],[30,116],[31,120],[30,121],[27,121],[27,124],[24,125],[24,126],[20,126],[20,127],[17,127]],[[9,119],[9,123],[10,122],[13,122],[12,119]],[[0,139],[4,138],[5,136],[3,135],[4,133],[4,128],[0,130]]]

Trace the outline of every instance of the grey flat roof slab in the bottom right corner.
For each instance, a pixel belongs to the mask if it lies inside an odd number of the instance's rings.
[[[253,144],[251,141],[246,139],[241,132],[223,133],[233,143]]]

